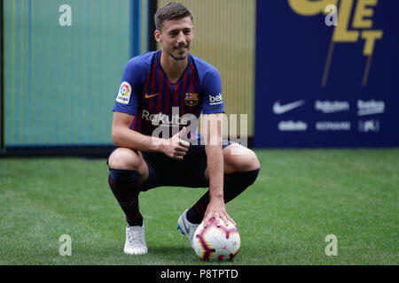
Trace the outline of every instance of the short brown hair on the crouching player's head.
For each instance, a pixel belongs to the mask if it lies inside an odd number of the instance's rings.
[[[153,18],[155,20],[156,29],[160,31],[160,29],[162,28],[162,23],[165,20],[183,19],[189,16],[192,19],[192,12],[184,7],[184,5],[180,3],[170,2],[160,7],[160,9],[158,9]]]

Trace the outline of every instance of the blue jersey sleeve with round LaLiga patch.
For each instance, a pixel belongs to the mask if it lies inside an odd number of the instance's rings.
[[[126,65],[121,79],[121,86],[118,90],[113,111],[137,114],[138,97],[141,88],[141,72],[139,65],[130,60]]]

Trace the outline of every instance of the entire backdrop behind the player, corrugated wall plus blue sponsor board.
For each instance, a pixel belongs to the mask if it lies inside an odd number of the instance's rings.
[[[160,48],[166,2],[2,0],[2,156],[108,153],[124,65]],[[246,115],[255,147],[399,146],[397,2],[332,0],[338,26],[328,1],[178,2],[194,14],[192,53],[220,71],[226,113]]]

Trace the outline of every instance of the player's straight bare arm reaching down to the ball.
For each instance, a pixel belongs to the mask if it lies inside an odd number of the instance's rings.
[[[203,122],[206,123],[205,151],[207,153],[207,172],[209,175],[209,204],[204,215],[204,226],[211,218],[215,218],[216,225],[220,226],[220,218],[227,225],[230,220],[234,220],[227,214],[223,199],[223,114],[204,115]]]

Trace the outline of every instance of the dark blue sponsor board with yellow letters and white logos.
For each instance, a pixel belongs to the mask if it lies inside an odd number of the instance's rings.
[[[254,147],[399,146],[399,1],[256,4]]]

